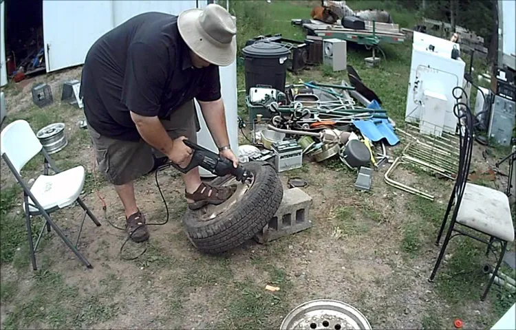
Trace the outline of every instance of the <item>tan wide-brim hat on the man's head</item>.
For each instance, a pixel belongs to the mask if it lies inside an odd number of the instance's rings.
[[[221,5],[190,9],[178,17],[179,32],[188,47],[205,61],[226,66],[237,57],[237,25]]]

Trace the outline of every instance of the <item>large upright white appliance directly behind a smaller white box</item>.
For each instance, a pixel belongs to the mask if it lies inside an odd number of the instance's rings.
[[[440,45],[444,45],[444,43]],[[442,94],[447,100],[442,130],[447,133],[455,133],[457,118],[453,113],[455,98],[453,98],[452,91],[454,87],[462,87],[464,84],[465,63],[460,57],[456,60],[451,58],[451,50],[448,53],[444,48],[443,46],[442,52],[438,53],[427,50],[422,44],[412,45],[405,121],[418,122],[421,120],[424,91],[431,91]]]

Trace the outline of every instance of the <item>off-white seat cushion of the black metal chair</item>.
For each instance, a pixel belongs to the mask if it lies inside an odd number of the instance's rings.
[[[457,222],[499,239],[514,241],[509,199],[499,190],[467,183]]]

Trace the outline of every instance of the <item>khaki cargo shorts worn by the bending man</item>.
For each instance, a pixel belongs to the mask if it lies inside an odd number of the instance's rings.
[[[170,120],[161,120],[172,139],[185,136],[197,143],[200,124],[193,100],[175,110]],[[153,148],[143,139],[139,142],[116,140],[97,133],[88,125],[96,151],[98,169],[105,173],[107,180],[117,186],[146,175],[154,166]],[[157,157],[164,155],[154,151]]]

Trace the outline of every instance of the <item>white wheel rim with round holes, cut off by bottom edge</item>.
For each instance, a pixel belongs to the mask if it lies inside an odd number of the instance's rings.
[[[331,299],[312,300],[292,309],[280,329],[371,329],[356,308]]]

